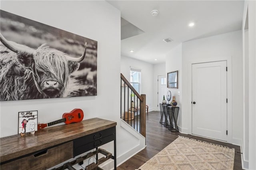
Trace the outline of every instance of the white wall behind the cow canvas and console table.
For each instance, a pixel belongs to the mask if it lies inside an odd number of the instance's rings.
[[[120,127],[120,90],[116,90],[120,89],[120,11],[106,1],[1,1],[1,9],[98,41],[98,87],[97,96],[92,97],[1,101],[0,136],[18,133],[19,111],[38,110],[38,121],[48,123],[80,108],[84,119],[100,117],[118,123],[117,157],[122,159],[117,163],[138,151],[126,155],[138,145],[138,139]],[[152,73],[152,69],[147,71]],[[148,91],[150,87],[142,92]],[[104,148],[112,152],[113,144]]]

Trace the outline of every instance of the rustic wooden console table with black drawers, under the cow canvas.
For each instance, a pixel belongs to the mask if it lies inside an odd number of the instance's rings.
[[[93,118],[56,127],[35,134],[0,138],[0,169],[43,170],[79,154],[114,141],[116,170],[116,122]]]

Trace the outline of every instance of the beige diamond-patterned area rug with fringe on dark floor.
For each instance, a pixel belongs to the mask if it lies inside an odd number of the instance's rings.
[[[235,149],[179,136],[138,170],[233,170]]]

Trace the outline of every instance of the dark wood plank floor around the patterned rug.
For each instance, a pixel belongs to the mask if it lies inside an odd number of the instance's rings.
[[[134,170],[142,166],[155,154],[164,149],[168,144],[180,136],[186,136],[189,138],[194,138],[197,140],[202,140],[214,144],[219,144],[222,146],[227,146],[230,148],[235,148],[235,160],[234,160],[234,170],[241,170],[241,155],[240,146],[233,144],[228,144],[225,142],[219,142],[216,140],[210,140],[206,138],[200,138],[197,136],[192,136],[188,134],[182,134],[180,132],[170,132],[167,128],[159,123],[160,112],[152,111],[146,116],[146,145],[147,147],[140,151],[138,154],[134,155],[132,158],[117,167],[117,170]]]

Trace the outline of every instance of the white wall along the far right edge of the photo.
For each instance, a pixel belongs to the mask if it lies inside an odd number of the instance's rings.
[[[244,30],[248,12],[248,30]],[[242,164],[244,168],[256,169],[256,2],[244,2],[243,15],[243,59],[244,59],[244,126],[242,140]],[[247,36],[248,35],[248,36]],[[248,72],[247,72],[248,70]]]

